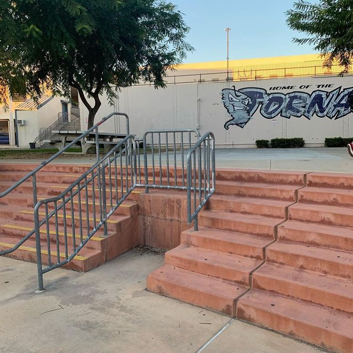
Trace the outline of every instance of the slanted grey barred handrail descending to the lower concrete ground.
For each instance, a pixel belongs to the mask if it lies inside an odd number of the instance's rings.
[[[127,148],[130,146],[130,148]],[[131,148],[133,146],[133,149]],[[128,151],[136,151],[136,146],[134,142],[134,136],[128,135],[119,143],[117,143],[113,149],[111,149],[104,157],[99,159],[93,166],[91,166],[85,173],[83,173],[78,179],[76,179],[70,186],[68,186],[60,195],[47,198],[39,201],[34,208],[34,218],[35,218],[35,234],[36,234],[36,253],[37,253],[37,270],[38,270],[38,285],[39,290],[43,290],[43,274],[51,271],[55,268],[58,268],[62,265],[70,262],[77,253],[84,247],[84,245],[97,233],[98,229],[104,226],[104,235],[107,235],[107,220],[114,213],[114,211],[119,207],[119,205],[130,195],[131,191],[135,188],[137,184],[136,180],[136,153],[134,153],[133,165],[130,164],[131,168],[131,181],[130,186],[128,185],[127,180],[127,166],[128,166]],[[119,153],[117,153],[119,152]],[[119,180],[123,180],[123,169],[122,167],[122,154],[125,154],[125,172],[126,172],[126,190],[124,190],[124,185],[121,184],[121,197],[119,198],[118,192],[118,168],[117,168],[117,159],[120,158],[120,178]],[[111,158],[113,155],[113,158]],[[106,163],[107,162],[107,163]],[[113,204],[113,183],[112,183],[112,163],[115,166],[115,195]],[[110,191],[110,211],[107,212],[107,200],[106,200],[106,168],[108,168],[108,190]],[[95,173],[95,169],[97,172]],[[113,172],[114,172],[113,171]],[[88,178],[91,176],[90,178]],[[94,187],[94,180],[97,177],[97,191],[99,191],[99,207],[100,207],[100,217],[99,221],[96,216],[96,200],[95,200],[95,192],[96,189]],[[81,184],[82,183],[82,184]],[[90,217],[89,217],[89,206],[88,206],[88,185],[91,183],[92,185],[92,198],[93,198],[93,224],[90,225]],[[74,189],[77,189],[74,191]],[[81,191],[84,190],[85,205],[86,209],[82,211],[81,206]],[[120,191],[120,190],[119,190]],[[68,195],[68,197],[66,197]],[[80,243],[76,246],[76,235],[75,235],[75,224],[74,224],[74,209],[73,209],[73,198],[78,196],[78,208],[79,208],[79,229],[80,229]],[[62,203],[58,206],[58,201],[62,201]],[[73,241],[73,251],[69,255],[68,251],[68,241],[67,241],[67,217],[66,217],[66,206],[70,202],[71,204],[71,214],[68,216],[68,219],[71,220],[72,224],[72,241]],[[48,213],[48,204],[54,204],[54,211],[50,214]],[[46,217],[40,222],[39,221],[39,209],[42,205],[45,205]],[[65,259],[60,260],[60,244],[59,244],[59,230],[58,230],[58,212],[62,209],[63,213],[63,226],[64,226],[64,247],[65,247]],[[82,227],[82,213],[86,213],[86,223],[87,223],[87,236],[83,238],[83,227]],[[55,217],[55,236],[56,236],[56,263],[51,262],[51,245],[50,245],[50,231],[49,231],[49,220]],[[97,222],[98,221],[98,222]],[[42,254],[41,254],[41,238],[40,238],[40,227],[46,224],[46,235],[47,235],[47,254],[48,254],[48,267],[43,269],[42,266]],[[92,231],[90,228],[93,225]],[[62,234],[61,234],[62,235]]]

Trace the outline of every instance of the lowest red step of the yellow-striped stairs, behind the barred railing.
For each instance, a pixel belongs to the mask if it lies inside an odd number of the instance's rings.
[[[0,235],[0,250],[7,250],[14,245],[16,245],[17,241],[14,242],[14,238],[5,237]],[[45,265],[49,264],[48,260],[48,251],[46,243],[43,241],[41,242],[41,254],[42,254],[42,263]],[[65,252],[64,247],[59,247],[60,249],[60,261],[65,260]],[[57,261],[57,252],[56,246],[50,247],[50,254],[51,254],[51,262],[55,264]],[[71,255],[70,253],[68,255]],[[34,238],[30,238],[26,240],[23,245],[19,247],[19,249],[11,252],[10,254],[6,255],[8,257],[16,258],[19,260],[24,260],[28,262],[37,262],[36,257],[36,241]],[[97,267],[98,265],[105,262],[104,254],[98,250],[90,249],[88,247],[83,247],[78,255],[76,255],[72,261],[68,264],[64,265],[64,268],[76,270],[80,272],[89,271],[92,268]]]

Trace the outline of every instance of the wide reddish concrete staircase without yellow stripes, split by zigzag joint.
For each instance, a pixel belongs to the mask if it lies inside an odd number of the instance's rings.
[[[353,175],[217,171],[148,290],[353,352]]]

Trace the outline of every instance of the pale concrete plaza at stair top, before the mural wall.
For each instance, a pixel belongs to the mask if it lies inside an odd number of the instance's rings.
[[[149,160],[151,156],[149,155]],[[158,165],[157,155],[155,156]],[[180,152],[177,152],[177,164],[180,165]],[[184,160],[186,161],[186,155]],[[41,160],[8,160],[11,163],[40,163]],[[89,157],[63,157],[55,163],[92,164],[94,155]],[[166,164],[166,155],[162,155],[162,163]],[[173,152],[169,152],[169,163],[173,165]],[[143,165],[143,163],[142,163]],[[233,148],[216,150],[216,167],[221,168],[255,168],[277,170],[308,170],[318,172],[353,173],[353,158],[346,148],[298,148],[298,149],[256,149]]]

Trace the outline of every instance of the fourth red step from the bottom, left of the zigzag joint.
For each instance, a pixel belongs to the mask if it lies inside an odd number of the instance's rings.
[[[281,219],[243,213],[207,210],[199,215],[201,226],[274,238]]]

